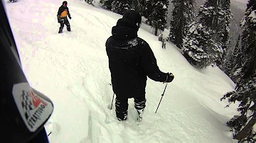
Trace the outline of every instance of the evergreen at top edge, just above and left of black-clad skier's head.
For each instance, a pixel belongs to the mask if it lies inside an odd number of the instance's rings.
[[[125,11],[132,8],[132,1],[113,0],[111,7],[111,11],[123,15]]]

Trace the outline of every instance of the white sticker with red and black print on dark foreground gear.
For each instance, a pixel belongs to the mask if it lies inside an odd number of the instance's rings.
[[[14,84],[14,101],[30,132],[35,132],[53,113],[53,105],[33,92],[28,83]]]

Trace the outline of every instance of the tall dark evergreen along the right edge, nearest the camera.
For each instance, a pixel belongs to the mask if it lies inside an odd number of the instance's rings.
[[[239,78],[235,91],[226,93],[221,100],[228,98],[229,103],[239,102],[240,115],[227,122],[234,132],[234,138],[240,141],[256,142],[256,133],[252,127],[256,123],[256,1],[247,4],[245,17],[242,18],[242,36],[240,41]]]

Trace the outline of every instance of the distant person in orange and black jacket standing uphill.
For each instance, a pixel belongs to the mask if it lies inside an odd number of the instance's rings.
[[[67,26],[67,30],[71,31],[70,23],[68,21],[67,16],[68,16],[68,18],[71,19],[70,12],[68,10],[68,2],[63,1],[63,5],[60,6],[60,8],[58,9],[58,13],[57,13],[58,23],[60,23],[60,28],[59,28],[58,33],[63,33],[64,24]]]

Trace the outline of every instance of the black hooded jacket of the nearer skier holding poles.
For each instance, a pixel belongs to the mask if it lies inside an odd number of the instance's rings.
[[[132,98],[145,94],[146,76],[166,81],[149,44],[137,36],[138,28],[126,18],[119,19],[107,39],[106,51],[116,96]]]

